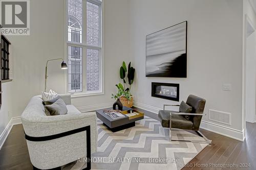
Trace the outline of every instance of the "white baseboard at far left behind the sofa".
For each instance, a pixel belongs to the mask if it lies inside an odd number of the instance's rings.
[[[5,140],[7,139],[10,131],[12,130],[13,125],[18,125],[22,123],[22,119],[19,117],[12,117],[10,122],[7,124],[5,130],[0,135],[0,150],[3,147],[3,144],[5,143]]]

